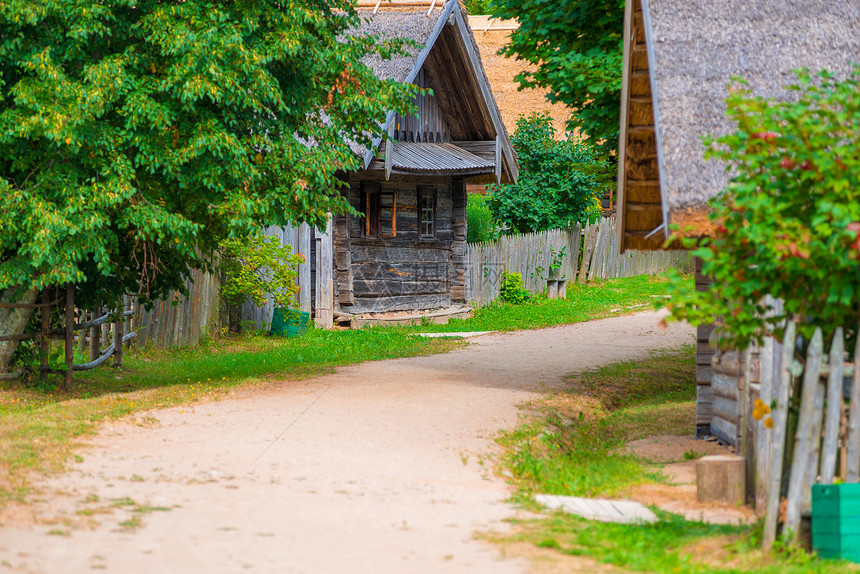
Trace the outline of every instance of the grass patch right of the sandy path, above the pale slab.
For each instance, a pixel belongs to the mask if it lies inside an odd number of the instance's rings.
[[[607,496],[659,481],[658,473],[617,449],[695,427],[694,352],[689,345],[572,377],[570,391],[533,404],[544,417],[500,438],[520,499],[535,492]]]

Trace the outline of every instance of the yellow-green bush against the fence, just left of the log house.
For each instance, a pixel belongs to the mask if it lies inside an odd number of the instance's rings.
[[[256,235],[224,240],[220,251],[225,277],[221,294],[227,301],[238,305],[250,298],[262,307],[271,297],[282,309],[296,303],[298,266],[305,258],[293,254],[292,247],[276,237]]]

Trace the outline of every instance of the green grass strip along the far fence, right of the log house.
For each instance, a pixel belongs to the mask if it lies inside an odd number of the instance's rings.
[[[567,299],[538,297],[522,305],[495,301],[475,309],[471,319],[452,319],[447,325],[421,325],[410,330],[436,333],[513,331],[617,317],[652,308],[657,297],[665,294],[666,286],[667,279],[647,275],[588,285],[568,284]]]

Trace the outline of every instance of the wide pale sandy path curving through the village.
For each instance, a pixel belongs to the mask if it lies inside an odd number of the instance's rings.
[[[147,413],[154,424],[106,426],[82,462],[44,485],[44,500],[27,511],[38,521],[6,517],[0,565],[50,574],[527,572],[474,538],[515,513],[484,464],[492,436],[515,425],[519,403],[571,371],[693,341],[686,325],[658,331],[656,317],[484,335],[447,355],[366,363]],[[116,504],[125,498],[169,510],[122,528],[134,508]],[[110,512],[80,514],[103,507]],[[46,524],[49,516],[61,521]]]

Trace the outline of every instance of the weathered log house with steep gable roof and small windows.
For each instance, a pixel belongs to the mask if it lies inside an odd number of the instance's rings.
[[[381,78],[433,92],[417,97],[417,116],[389,113],[364,169],[345,175],[350,203],[363,214],[336,216],[332,225],[332,308],[345,320],[465,303],[466,184],[517,177],[462,8],[456,0],[429,11],[430,3],[414,5],[365,12],[357,31],[423,46],[368,64]]]

